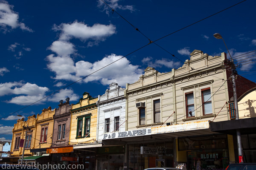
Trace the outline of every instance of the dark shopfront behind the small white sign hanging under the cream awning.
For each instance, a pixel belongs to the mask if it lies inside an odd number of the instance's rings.
[[[174,145],[172,139],[166,142],[129,144],[128,149],[130,170],[174,166]]]

